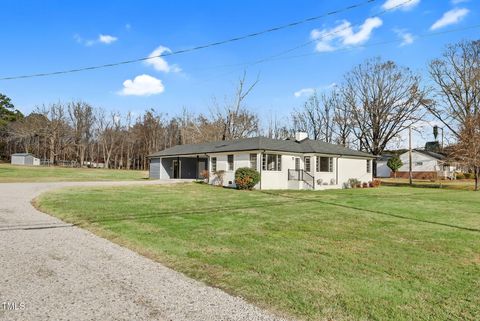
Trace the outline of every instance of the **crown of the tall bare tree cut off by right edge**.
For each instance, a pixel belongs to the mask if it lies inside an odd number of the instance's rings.
[[[437,104],[428,110],[457,138],[471,118],[480,114],[480,40],[447,46],[430,63]]]

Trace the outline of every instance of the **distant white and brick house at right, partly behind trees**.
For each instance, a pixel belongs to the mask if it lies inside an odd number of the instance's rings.
[[[403,166],[397,171],[398,178],[409,177],[409,156],[405,152],[399,156],[402,160]],[[382,160],[381,158],[380,160]],[[388,161],[388,159],[387,159]],[[386,161],[385,161],[386,166]],[[387,167],[388,168],[388,167]],[[393,177],[393,172],[388,168],[390,177]],[[457,167],[447,161],[443,154],[422,150],[412,150],[412,177],[416,179],[455,179],[455,171]],[[378,162],[377,162],[378,171]],[[386,170],[385,170],[386,171]],[[382,175],[384,175],[382,171]],[[387,177],[387,176],[382,176]]]

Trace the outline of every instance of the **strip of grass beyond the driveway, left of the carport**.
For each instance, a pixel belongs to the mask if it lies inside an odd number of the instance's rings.
[[[0,164],[0,183],[139,180],[145,171]]]

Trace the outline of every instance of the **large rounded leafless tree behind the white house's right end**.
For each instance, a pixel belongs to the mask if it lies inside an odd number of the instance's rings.
[[[380,155],[395,136],[423,117],[426,90],[420,80],[408,68],[379,58],[345,76],[344,99],[361,149]]]

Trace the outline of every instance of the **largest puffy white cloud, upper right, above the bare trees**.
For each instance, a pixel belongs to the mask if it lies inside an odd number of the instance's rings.
[[[382,19],[378,17],[368,18],[354,32],[349,21],[342,21],[338,26],[331,29],[318,30],[310,32],[310,37],[317,40],[315,50],[319,52],[335,51],[342,46],[360,45],[368,41],[374,29],[383,24]]]

